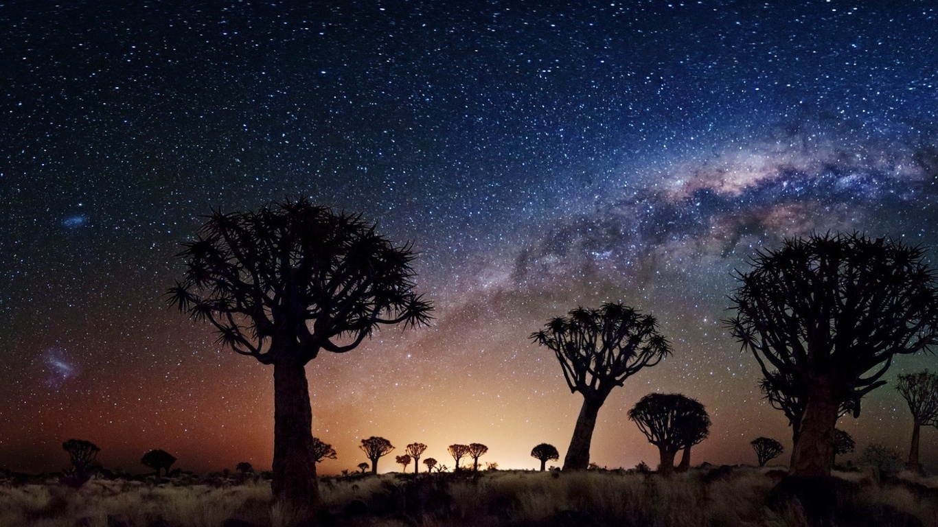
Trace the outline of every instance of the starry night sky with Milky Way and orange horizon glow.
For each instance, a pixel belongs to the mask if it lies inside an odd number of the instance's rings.
[[[456,443],[563,456],[582,398],[528,335],[618,300],[673,356],[607,399],[598,465],[657,464],[626,418],[653,391],[706,406],[694,462],[790,451],[720,323],[731,272],[811,232],[938,248],[930,2],[304,4],[0,2],[0,466],[60,470],[74,437],[129,472],[153,448],[269,468],[272,369],[163,296],[212,207],[301,194],[420,252],[433,323],[307,367],[325,474],[371,435],[450,467]],[[858,450],[907,452],[893,386],[840,420]],[[938,470],[938,430],[922,458]]]

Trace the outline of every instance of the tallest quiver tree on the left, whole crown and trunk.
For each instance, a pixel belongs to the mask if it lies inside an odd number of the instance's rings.
[[[414,292],[414,252],[358,215],[305,198],[257,212],[212,211],[178,256],[186,270],[169,302],[207,321],[219,342],[274,369],[276,501],[307,511],[321,498],[312,456],[305,365],[345,353],[383,324],[424,324],[431,304]]]

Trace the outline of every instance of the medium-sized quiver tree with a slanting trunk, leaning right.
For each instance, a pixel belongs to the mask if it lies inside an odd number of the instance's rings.
[[[567,317],[548,321],[530,338],[552,350],[570,392],[583,397],[564,470],[586,470],[599,408],[615,386],[671,354],[668,340],[658,334],[654,317],[621,302],[606,302],[599,309],[572,309]]]

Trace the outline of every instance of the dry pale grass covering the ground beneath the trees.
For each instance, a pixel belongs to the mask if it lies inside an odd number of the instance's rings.
[[[574,474],[384,474],[325,478],[329,523],[403,526],[711,527],[809,525],[798,504],[770,509],[775,481],[766,471],[695,470],[671,479],[619,471]],[[877,481],[871,474],[838,474],[847,489],[839,525],[938,527],[938,478],[903,474]],[[241,519],[259,527],[292,522],[271,508],[269,482],[176,486],[92,480],[81,489],[55,483],[0,486],[0,526],[219,527]]]

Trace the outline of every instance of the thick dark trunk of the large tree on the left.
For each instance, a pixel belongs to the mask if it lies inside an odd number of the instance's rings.
[[[310,388],[302,365],[274,364],[273,472],[274,500],[314,514],[321,497],[312,454]]]

